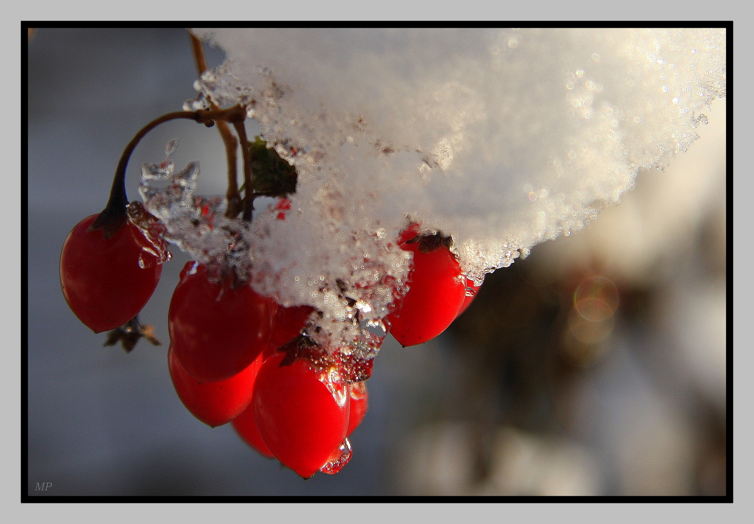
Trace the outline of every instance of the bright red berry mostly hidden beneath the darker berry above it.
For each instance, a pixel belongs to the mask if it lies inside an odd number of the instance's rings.
[[[249,406],[256,373],[262,366],[262,355],[256,357],[238,375],[219,382],[204,382],[203,384],[197,382],[183,368],[176,358],[172,345],[167,351],[167,366],[176,393],[186,409],[189,409],[192,415],[204,424],[216,427],[227,424]]]

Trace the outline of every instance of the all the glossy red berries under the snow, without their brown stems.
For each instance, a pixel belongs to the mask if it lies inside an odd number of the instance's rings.
[[[97,217],[69,234],[60,280],[72,311],[103,332],[127,324],[152,296],[165,246],[131,218],[108,236],[92,226]],[[403,346],[443,332],[478,289],[461,274],[448,238],[418,230],[412,224],[397,239],[413,253],[409,291],[385,317]],[[372,372],[372,360],[328,354],[305,335],[316,314],[308,305],[280,306],[231,269],[198,262],[183,268],[168,313],[168,367],[186,408],[213,427],[232,421],[250,446],[305,478],[336,473],[351,458],[348,436],[366,412]]]

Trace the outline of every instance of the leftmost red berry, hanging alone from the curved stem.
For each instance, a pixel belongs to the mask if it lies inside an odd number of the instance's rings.
[[[157,287],[162,265],[155,246],[131,222],[110,238],[89,231],[97,215],[78,222],[63,244],[60,284],[69,308],[94,332],[139,314]]]

